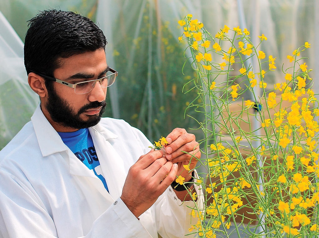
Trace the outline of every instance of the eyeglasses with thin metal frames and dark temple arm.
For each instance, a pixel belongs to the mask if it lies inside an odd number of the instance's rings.
[[[37,74],[37,75],[40,75],[41,77],[43,77],[45,79],[55,81],[56,83],[61,83],[61,84],[66,85],[70,88],[74,88],[74,93],[76,93],[76,94],[85,94],[85,93],[91,92],[97,82],[100,82],[102,88],[107,88],[115,82],[115,78],[118,74],[118,72],[116,70],[109,68],[107,75],[102,77],[102,78],[73,84],[73,83],[68,83],[68,82],[62,81],[62,80],[57,79],[57,78],[49,77],[47,75],[39,74],[39,73],[34,72],[32,70],[30,70],[30,71]]]

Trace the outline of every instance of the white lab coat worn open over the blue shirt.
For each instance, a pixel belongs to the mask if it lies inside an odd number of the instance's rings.
[[[169,186],[138,220],[120,196],[131,165],[150,141],[123,120],[89,129],[109,193],[63,143],[40,107],[0,151],[1,237],[182,237],[195,203]],[[197,189],[197,206],[202,207]],[[192,223],[197,220],[193,218]]]

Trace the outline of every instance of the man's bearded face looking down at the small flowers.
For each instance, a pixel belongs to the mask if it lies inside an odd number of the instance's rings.
[[[61,67],[54,71],[54,77],[68,83],[78,83],[105,76],[107,67],[105,52],[99,49],[62,59]],[[88,128],[100,121],[106,106],[106,92],[106,88],[96,83],[91,92],[75,94],[73,88],[54,82],[53,90],[48,91],[41,109],[57,131]]]

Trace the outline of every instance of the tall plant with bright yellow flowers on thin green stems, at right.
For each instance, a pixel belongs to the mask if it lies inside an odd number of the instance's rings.
[[[189,231],[216,237],[234,225],[240,237],[242,224],[250,235],[319,235],[318,99],[301,57],[311,44],[287,56],[290,65],[271,87],[267,75],[277,67],[276,57],[260,50],[266,36],[254,46],[246,28],[225,25],[213,36],[191,14],[178,23],[197,72],[187,83],[198,95],[188,109],[199,112],[206,170],[198,181],[206,206],[190,214],[198,222]]]

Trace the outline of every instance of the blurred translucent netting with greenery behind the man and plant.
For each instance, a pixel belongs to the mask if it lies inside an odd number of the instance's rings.
[[[2,0],[0,149],[30,120],[39,103],[27,84],[23,40],[27,20],[51,8],[75,11],[98,22],[108,40],[108,64],[119,72],[108,90],[104,116],[128,121],[151,141],[174,127],[184,127],[201,137],[200,131],[189,129],[198,127],[190,117],[194,112],[188,110],[190,116],[184,118],[187,105],[196,95],[183,93],[183,86],[196,74],[187,60],[186,44],[179,43],[183,29],[177,22],[189,13],[211,33],[226,24],[247,28],[251,36],[264,34],[268,41],[263,51],[271,52],[278,62],[289,62],[286,56],[309,42],[306,62],[314,69],[315,93],[319,91],[315,70],[319,64],[319,5],[315,0]],[[273,73],[264,80],[273,85],[278,77]]]

